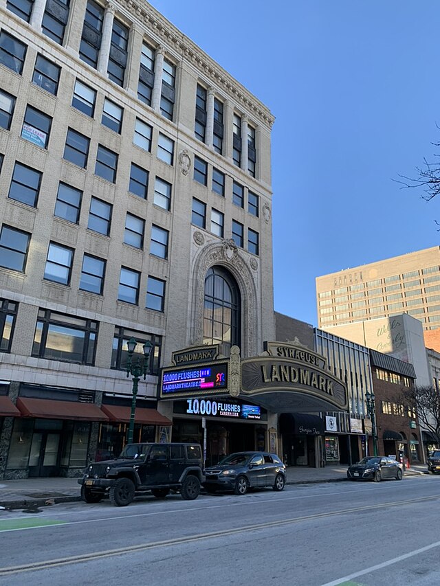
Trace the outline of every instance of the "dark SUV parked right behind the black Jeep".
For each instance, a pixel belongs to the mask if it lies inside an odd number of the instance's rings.
[[[245,495],[249,488],[271,486],[282,491],[286,482],[286,467],[274,453],[237,452],[205,469],[203,486],[208,493],[233,491]]]

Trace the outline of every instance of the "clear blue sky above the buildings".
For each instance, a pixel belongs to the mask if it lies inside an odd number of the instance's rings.
[[[440,142],[438,0],[151,4],[276,117],[276,311],[316,326],[316,276],[439,245],[440,199],[392,181]]]

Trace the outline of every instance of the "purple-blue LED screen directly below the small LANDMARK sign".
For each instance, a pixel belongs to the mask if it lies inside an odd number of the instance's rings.
[[[228,363],[162,371],[161,395],[228,388]]]

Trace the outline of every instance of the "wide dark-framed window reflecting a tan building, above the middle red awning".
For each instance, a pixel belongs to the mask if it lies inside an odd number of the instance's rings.
[[[98,322],[40,309],[32,356],[93,365]]]

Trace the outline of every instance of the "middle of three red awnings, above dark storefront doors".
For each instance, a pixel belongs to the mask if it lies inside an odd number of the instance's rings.
[[[52,399],[17,399],[22,417],[41,417],[43,419],[78,419],[80,421],[108,421],[107,415],[93,403],[74,403],[74,401],[52,401]]]

